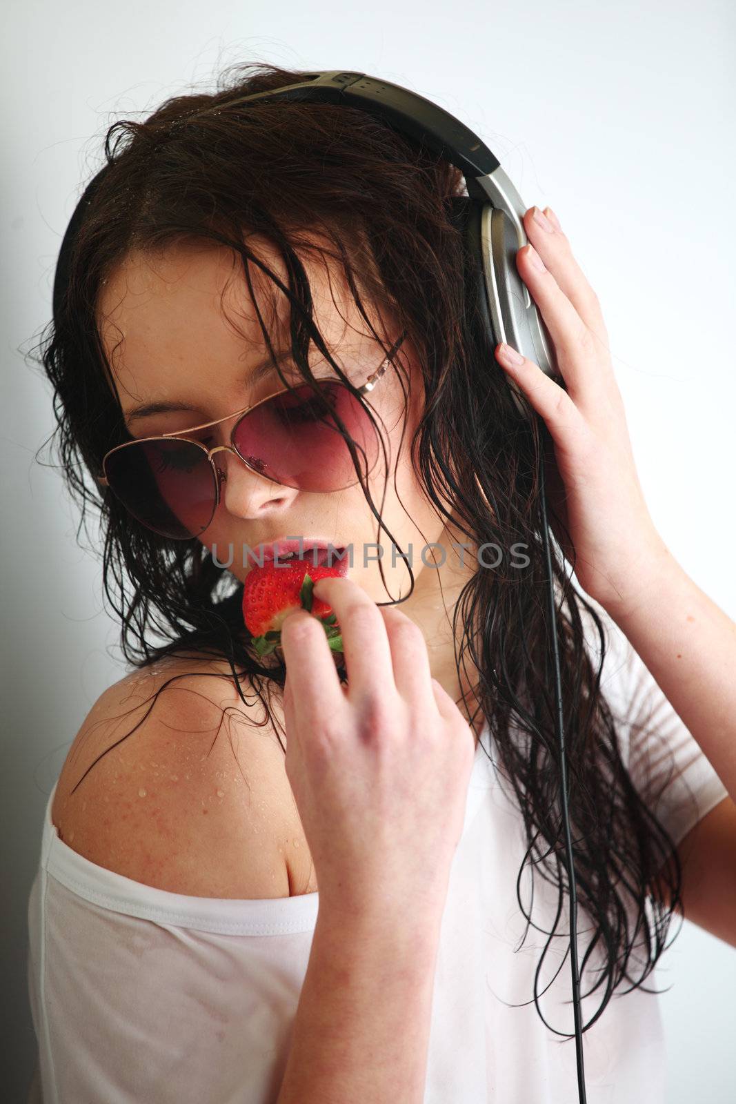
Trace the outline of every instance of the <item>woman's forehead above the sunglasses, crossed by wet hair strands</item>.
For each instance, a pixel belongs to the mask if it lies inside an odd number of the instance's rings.
[[[330,346],[342,340],[356,307],[341,267],[321,253],[319,238],[310,244],[299,256],[314,321]],[[255,234],[247,245],[288,286],[276,246]],[[191,373],[225,382],[245,362],[262,359],[268,350],[258,312],[274,347],[290,344],[288,297],[257,265],[248,270],[255,304],[241,257],[211,242],[182,242],[158,254],[134,251],[117,266],[102,288],[97,321],[124,408],[153,391],[173,397]]]

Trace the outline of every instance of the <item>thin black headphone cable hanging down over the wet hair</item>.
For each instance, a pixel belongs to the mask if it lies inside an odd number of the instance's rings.
[[[573,980],[573,1017],[575,1020],[575,1051],[577,1058],[577,1093],[579,1104],[586,1104],[585,1072],[583,1069],[583,1029],[580,1016],[580,975],[577,962],[577,893],[575,890],[575,868],[573,859],[573,840],[569,831],[567,811],[567,764],[565,762],[565,720],[563,714],[562,676],[559,673],[559,648],[557,645],[557,617],[555,613],[555,580],[552,573],[552,551],[550,549],[550,527],[547,523],[546,489],[544,482],[545,440],[551,440],[546,424],[540,418],[540,507],[542,514],[542,541],[547,570],[547,598],[550,603],[550,631],[552,635],[552,657],[555,669],[555,707],[557,741],[559,743],[559,800],[565,827],[565,857],[567,859],[567,879],[569,883],[569,964]],[[554,455],[554,453],[553,453]]]

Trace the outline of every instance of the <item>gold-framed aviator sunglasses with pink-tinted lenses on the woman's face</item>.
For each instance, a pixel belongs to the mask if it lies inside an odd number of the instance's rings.
[[[406,333],[396,341],[358,395],[372,391]],[[375,427],[364,406],[340,380],[273,392],[252,406],[181,433],[196,433],[237,417],[230,445],[207,448],[177,433],[128,440],[109,449],[97,481],[109,487],[142,526],[169,540],[199,537],[214,518],[226,473],[215,453],[234,453],[253,471],[305,491],[344,490],[359,481],[341,422],[364,461],[365,478],[378,458]],[[360,466],[359,466],[360,468]]]

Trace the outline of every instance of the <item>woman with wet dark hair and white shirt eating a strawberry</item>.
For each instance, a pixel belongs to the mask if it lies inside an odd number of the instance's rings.
[[[471,337],[457,169],[356,109],[232,106],[305,77],[246,66],[110,127],[42,352],[83,511],[78,468],[109,484],[135,670],[50,799],[40,1080],[75,1102],[570,1098],[544,436],[511,380],[553,443],[588,1100],[662,1100],[672,914],[736,944],[734,625],[652,523],[552,212],[518,265],[566,390]],[[299,412],[329,393],[363,447],[275,437],[260,403],[285,389]],[[303,612],[265,655],[244,626],[253,553],[299,537],[351,550],[313,587],[343,654]]]

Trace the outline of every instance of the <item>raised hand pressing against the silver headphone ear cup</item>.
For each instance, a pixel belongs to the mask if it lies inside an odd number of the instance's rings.
[[[672,560],[637,475],[598,297],[554,212],[546,208],[545,213],[547,219],[533,206],[524,215],[531,245],[518,251],[516,267],[550,331],[566,390],[531,360],[512,363],[503,344],[495,357],[542,416],[554,444],[545,479],[555,538],[573,562],[562,524],[573,541],[580,586],[614,614],[646,593],[648,581]]]

